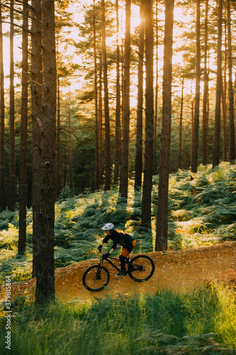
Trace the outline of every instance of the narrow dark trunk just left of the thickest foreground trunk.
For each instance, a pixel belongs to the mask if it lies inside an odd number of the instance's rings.
[[[18,254],[26,251],[26,207],[27,207],[27,133],[28,133],[28,1],[23,5],[22,32],[22,92],[21,92],[21,151],[19,179],[19,239]]]

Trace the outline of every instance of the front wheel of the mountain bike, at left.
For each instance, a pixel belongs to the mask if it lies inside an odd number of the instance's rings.
[[[109,282],[110,274],[107,268],[93,265],[84,271],[82,278],[84,287],[89,291],[101,291]]]

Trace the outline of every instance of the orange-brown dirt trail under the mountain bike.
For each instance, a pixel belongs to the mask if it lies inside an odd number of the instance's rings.
[[[157,251],[146,253],[155,263],[154,275],[145,283],[136,283],[128,275],[117,278],[117,271],[105,261],[110,271],[110,282],[106,289],[93,293],[86,290],[82,275],[86,268],[98,263],[97,259],[80,261],[55,270],[55,290],[57,300],[69,302],[93,300],[104,295],[154,294],[157,289],[186,291],[198,285],[218,280],[236,283],[236,241],[228,241],[213,246],[199,246],[179,251]],[[35,278],[11,284],[11,297],[35,293]],[[4,288],[0,298],[4,299]]]

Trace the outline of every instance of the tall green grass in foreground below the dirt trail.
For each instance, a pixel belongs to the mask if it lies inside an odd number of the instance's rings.
[[[11,354],[236,354],[235,293],[222,285],[41,310],[26,301],[12,310]],[[1,354],[9,354],[4,311],[1,317]]]

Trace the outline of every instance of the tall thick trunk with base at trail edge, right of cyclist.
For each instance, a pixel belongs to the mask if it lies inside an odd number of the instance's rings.
[[[174,0],[167,0],[164,26],[164,67],[162,84],[162,136],[157,200],[157,233],[155,250],[167,250],[169,153],[172,124],[172,46]]]

